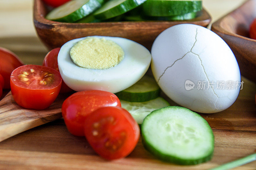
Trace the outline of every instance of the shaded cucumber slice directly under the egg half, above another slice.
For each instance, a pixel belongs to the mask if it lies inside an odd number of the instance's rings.
[[[128,102],[146,102],[160,96],[160,88],[153,77],[144,75],[128,89],[116,93],[116,96]]]

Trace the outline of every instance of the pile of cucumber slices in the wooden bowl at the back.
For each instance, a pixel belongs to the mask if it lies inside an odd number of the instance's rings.
[[[188,20],[200,15],[202,1],[189,0],[71,0],[46,18],[60,22]]]

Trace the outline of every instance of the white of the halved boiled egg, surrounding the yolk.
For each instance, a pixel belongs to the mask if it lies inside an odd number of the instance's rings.
[[[114,41],[124,50],[124,59],[114,67],[107,69],[89,69],[77,66],[70,58],[70,49],[80,40],[73,39],[65,43],[58,54],[58,66],[63,81],[75,91],[103,90],[111,93],[122,91],[147,72],[151,54],[144,46],[120,37],[91,36]]]

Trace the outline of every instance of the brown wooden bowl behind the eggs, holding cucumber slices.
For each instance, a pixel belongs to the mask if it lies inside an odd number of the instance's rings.
[[[49,50],[60,47],[71,39],[102,35],[123,37],[136,41],[148,49],[165,29],[183,23],[206,27],[211,22],[210,15],[203,10],[202,15],[186,21],[139,21],[139,22],[101,22],[101,23],[62,23],[44,18],[47,9],[41,0],[34,2],[34,24],[36,32]]]

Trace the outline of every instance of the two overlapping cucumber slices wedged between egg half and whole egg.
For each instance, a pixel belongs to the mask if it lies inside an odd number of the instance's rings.
[[[155,79],[144,75],[134,85],[116,93],[122,107],[128,110],[138,124],[152,111],[170,104],[160,96],[160,88]]]

